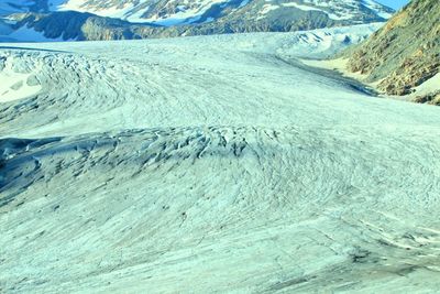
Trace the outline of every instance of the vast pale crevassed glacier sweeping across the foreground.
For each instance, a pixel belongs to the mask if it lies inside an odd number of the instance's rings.
[[[440,109],[297,62],[373,30],[2,46],[0,292],[438,292]]]

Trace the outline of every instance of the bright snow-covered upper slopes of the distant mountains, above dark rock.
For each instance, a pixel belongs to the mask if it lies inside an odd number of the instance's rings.
[[[220,17],[250,9],[257,18],[264,18],[271,11],[296,8],[302,11],[320,11],[333,20],[359,19],[367,13],[387,19],[393,12],[372,0],[50,0],[48,2],[48,8],[55,11],[74,10],[130,22],[153,22],[163,25],[215,21]]]

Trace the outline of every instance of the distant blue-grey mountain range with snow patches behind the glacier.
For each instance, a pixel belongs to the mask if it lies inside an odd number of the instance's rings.
[[[385,21],[372,0],[3,0],[0,40],[125,40],[288,32]]]

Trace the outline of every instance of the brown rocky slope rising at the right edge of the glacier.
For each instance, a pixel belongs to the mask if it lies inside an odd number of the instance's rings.
[[[345,56],[349,70],[367,75],[386,94],[440,105],[440,1],[413,0]]]

